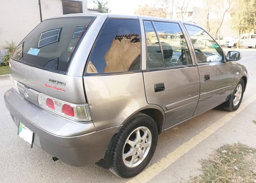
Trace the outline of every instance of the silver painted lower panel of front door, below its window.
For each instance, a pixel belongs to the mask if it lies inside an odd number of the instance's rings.
[[[226,101],[229,94],[233,92],[235,85],[232,62],[198,65],[198,70],[201,87],[195,115]],[[205,81],[206,75],[210,76],[210,80]]]

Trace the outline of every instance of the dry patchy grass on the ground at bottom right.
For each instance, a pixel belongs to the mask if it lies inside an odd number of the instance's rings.
[[[224,145],[201,162],[203,174],[189,182],[256,182],[256,149],[241,143]]]

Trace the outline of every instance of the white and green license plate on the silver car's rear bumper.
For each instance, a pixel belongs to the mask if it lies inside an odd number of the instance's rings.
[[[32,148],[34,133],[21,122],[19,122],[18,135]]]

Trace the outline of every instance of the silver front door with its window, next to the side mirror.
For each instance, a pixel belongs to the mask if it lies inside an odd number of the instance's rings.
[[[194,115],[226,101],[234,90],[232,62],[225,62],[220,46],[202,28],[184,24],[194,47],[200,75],[200,98]]]

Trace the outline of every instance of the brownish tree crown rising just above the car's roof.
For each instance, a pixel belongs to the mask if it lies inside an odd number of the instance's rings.
[[[144,15],[151,17],[162,17],[166,18],[168,12],[164,8],[157,8],[156,6],[149,6],[148,4],[144,6],[139,6],[134,12],[136,15]]]

